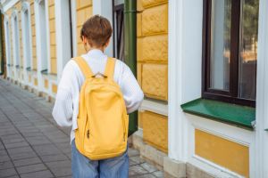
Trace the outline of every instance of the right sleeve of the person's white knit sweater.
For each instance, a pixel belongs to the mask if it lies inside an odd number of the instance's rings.
[[[138,81],[134,77],[132,71],[126,64],[124,64],[122,72],[121,91],[128,113],[130,114],[137,110],[143,101],[144,93],[138,85]]]

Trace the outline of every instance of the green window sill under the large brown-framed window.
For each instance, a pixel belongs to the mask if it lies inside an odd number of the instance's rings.
[[[207,117],[249,130],[254,129],[255,108],[205,99],[189,101],[180,107],[189,114]]]

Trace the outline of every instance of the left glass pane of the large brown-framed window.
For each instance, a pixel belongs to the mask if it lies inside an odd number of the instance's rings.
[[[231,0],[212,0],[210,88],[229,91]]]

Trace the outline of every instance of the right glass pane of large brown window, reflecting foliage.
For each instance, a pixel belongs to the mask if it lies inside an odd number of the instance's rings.
[[[255,100],[258,34],[257,0],[241,0],[239,98]]]

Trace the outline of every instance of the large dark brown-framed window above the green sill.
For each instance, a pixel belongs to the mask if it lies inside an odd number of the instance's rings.
[[[206,99],[255,106],[258,0],[204,0]]]

